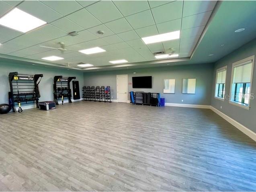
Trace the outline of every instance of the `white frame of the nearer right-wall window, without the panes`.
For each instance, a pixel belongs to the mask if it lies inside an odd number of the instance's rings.
[[[248,106],[246,106],[246,105],[244,105],[244,104],[242,104],[240,102],[236,102],[236,101],[231,100],[231,98],[232,98],[232,95],[231,95],[232,92],[231,91],[232,91],[232,84],[233,84],[234,68],[238,67],[238,66],[244,65],[245,62],[248,62],[250,60],[252,60],[252,73],[251,73],[250,93],[249,93],[249,95],[251,95],[251,92],[252,92],[253,69],[254,69],[254,55],[250,56],[250,57],[247,57],[245,59],[242,59],[240,61],[234,62],[232,64],[232,73],[231,73],[230,91],[229,91],[229,93],[230,93],[229,103],[232,104],[232,105],[235,105],[235,106],[242,107],[242,108],[247,109],[247,110],[250,109],[250,98],[249,98],[249,101],[248,101]]]

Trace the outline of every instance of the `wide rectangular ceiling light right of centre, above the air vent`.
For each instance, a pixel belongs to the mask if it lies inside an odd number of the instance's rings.
[[[157,43],[162,41],[169,41],[180,38],[180,31],[174,31],[170,33],[163,33],[160,35],[154,35],[141,38],[145,44]]]

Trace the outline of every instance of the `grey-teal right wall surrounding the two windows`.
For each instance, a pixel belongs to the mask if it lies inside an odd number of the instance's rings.
[[[231,83],[231,72],[232,64],[244,58],[256,54],[256,39],[252,40],[248,44],[238,48],[227,56],[223,57],[215,63],[214,74],[213,74],[213,88],[212,88],[212,100],[211,105],[217,110],[223,112],[232,119],[238,121],[242,125],[246,126],[250,130],[256,132],[256,97],[253,100],[250,100],[250,110],[241,108],[239,106],[234,106],[229,103],[229,100],[220,101],[214,97],[215,93],[215,78],[216,70],[223,66],[227,66],[227,75],[226,75],[226,86],[225,93],[229,94],[230,92],[230,83]],[[254,72],[252,79],[251,93],[256,94],[256,64],[254,60]],[[220,108],[222,106],[222,108]]]

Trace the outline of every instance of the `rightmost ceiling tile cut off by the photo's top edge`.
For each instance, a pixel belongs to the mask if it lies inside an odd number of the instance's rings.
[[[216,1],[184,1],[183,17],[213,10]]]

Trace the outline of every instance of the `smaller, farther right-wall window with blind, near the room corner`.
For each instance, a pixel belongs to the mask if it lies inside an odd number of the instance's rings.
[[[215,85],[215,97],[216,98],[224,99],[226,72],[227,72],[227,66],[217,69],[216,85]]]

